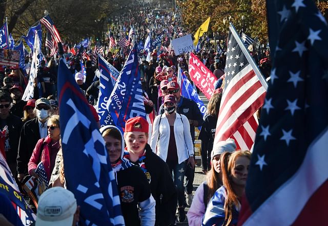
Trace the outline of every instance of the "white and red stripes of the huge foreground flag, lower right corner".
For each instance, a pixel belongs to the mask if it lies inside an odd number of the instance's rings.
[[[324,225],[328,209],[327,140],[325,130],[308,147],[297,172],[254,213],[250,206],[243,206],[247,211],[238,225]]]

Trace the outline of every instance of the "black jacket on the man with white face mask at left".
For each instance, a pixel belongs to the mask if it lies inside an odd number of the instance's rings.
[[[27,173],[27,163],[29,162],[33,149],[40,139],[40,130],[38,119],[27,121],[20,131],[17,155],[17,172],[18,174]]]

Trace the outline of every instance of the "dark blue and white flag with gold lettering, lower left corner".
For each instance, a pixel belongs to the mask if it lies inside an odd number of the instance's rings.
[[[16,181],[14,180],[10,168],[0,152],[0,192],[7,196],[12,202],[23,225],[30,225],[34,222],[35,215],[26,204],[22,194],[20,194]]]

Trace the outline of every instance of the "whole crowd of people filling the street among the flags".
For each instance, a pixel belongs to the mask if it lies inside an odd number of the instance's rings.
[[[139,54],[142,89],[147,97],[146,112],[155,112],[152,126],[142,117],[129,119],[124,134],[115,125],[101,128],[99,125],[115,175],[125,224],[174,225],[176,220],[184,222],[188,216],[189,225],[235,225],[251,153],[236,150],[233,139],[221,141],[219,148],[212,152],[222,97],[224,52],[218,53],[216,46],[210,43],[206,45],[208,48],[195,52],[219,81],[203,117],[195,101],[181,95],[177,82],[177,71],[181,68],[193,84],[188,73],[188,53],[176,55],[170,46],[172,39],[187,34],[180,25],[180,18],[172,11],[154,12],[150,7],[141,6],[112,18],[110,30],[116,40],[129,35],[131,29],[134,29],[131,39],[135,43],[145,43],[149,33],[153,40],[160,34],[163,36],[149,53],[150,59],[147,60],[144,49]],[[110,37],[103,40],[103,46],[107,47],[104,58],[120,71],[127,54],[120,51],[121,48],[108,48],[109,40]],[[99,93],[98,64],[86,60],[81,53],[73,55],[67,50],[64,57],[98,122],[95,108]],[[73,193],[66,189],[57,102],[60,91],[56,85],[58,58],[59,55],[48,55],[40,62],[33,84],[34,97],[28,101],[22,97],[28,86],[30,59],[26,59],[26,70],[0,67],[3,69],[0,71],[2,154],[20,189],[30,176],[38,177],[35,171],[40,162],[50,181],[49,189],[38,200],[37,209],[25,196],[37,214],[36,225],[48,225],[50,221],[56,225],[76,225],[81,214]],[[258,63],[268,76],[269,54],[263,53],[262,58],[264,60]],[[86,68],[85,78],[79,72],[80,62]],[[193,196],[195,127],[200,126],[201,169],[207,178]],[[26,193],[23,189],[21,192]],[[0,199],[6,203],[6,197]],[[51,206],[61,206],[62,210],[47,215],[55,211]],[[187,216],[186,206],[190,206]],[[17,223],[17,216],[5,217],[14,225],[21,225]]]

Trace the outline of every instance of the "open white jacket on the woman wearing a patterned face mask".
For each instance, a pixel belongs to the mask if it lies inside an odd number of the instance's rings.
[[[161,120],[160,120],[161,117]],[[182,121],[181,121],[182,119]],[[160,123],[159,123],[160,121]],[[183,122],[183,123],[182,123]],[[159,136],[159,140],[158,140]],[[178,163],[194,156],[194,145],[190,135],[190,125],[188,118],[176,113],[174,121],[174,138],[178,155]],[[158,140],[158,145],[157,145]],[[170,124],[165,114],[156,116],[153,123],[152,138],[150,146],[163,161],[168,157],[170,141]],[[157,150],[156,150],[157,145]]]

